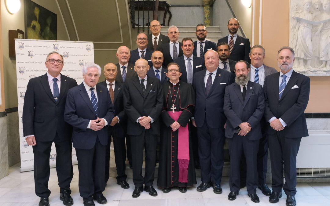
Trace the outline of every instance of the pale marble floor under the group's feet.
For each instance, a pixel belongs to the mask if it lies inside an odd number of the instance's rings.
[[[78,190],[78,166],[74,165],[74,177],[71,183],[72,197],[74,205],[83,205],[82,198]],[[39,197],[34,193],[33,171],[19,172],[19,164],[10,167],[9,175],[0,180],[0,205],[1,206],[32,206],[38,205]],[[132,198],[134,190],[133,181],[127,179],[130,184],[129,189],[122,189],[116,184],[116,179],[111,177],[107,183],[107,187],[103,192],[108,199],[107,205],[110,206],[207,206],[207,205],[281,205],[285,206],[285,195],[280,199],[279,203],[269,203],[268,197],[263,195],[257,189],[257,194],[260,198],[260,203],[253,203],[247,195],[246,188],[243,188],[237,199],[229,201],[227,195],[229,190],[229,179],[223,178],[222,194],[215,194],[212,188],[207,191],[198,192],[196,187],[189,188],[186,193],[181,193],[178,189],[173,189],[169,193],[163,193],[156,187],[157,179],[154,180],[154,187],[158,192],[158,196],[152,197],[147,192],[142,192],[138,198]],[[198,185],[201,179],[197,178]],[[269,185],[270,186],[270,185]],[[59,187],[57,185],[56,169],[50,169],[49,189],[51,191],[49,200],[51,206],[61,206],[59,200]],[[284,192],[283,192],[284,194]],[[315,205],[330,205],[330,183],[298,183],[297,195],[298,206],[315,206]],[[95,202],[95,205],[100,205]]]

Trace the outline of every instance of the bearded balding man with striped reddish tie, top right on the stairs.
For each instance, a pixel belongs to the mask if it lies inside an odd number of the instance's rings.
[[[238,28],[240,28],[240,23],[236,18],[231,18],[228,21],[228,31],[229,35],[218,40],[217,45],[220,42],[227,42],[229,45],[229,58],[234,61],[245,60],[250,63],[250,58],[248,56],[250,52],[250,41],[248,38],[241,37],[237,34]]]

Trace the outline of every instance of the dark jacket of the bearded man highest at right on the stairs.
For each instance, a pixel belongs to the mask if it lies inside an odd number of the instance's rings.
[[[219,39],[218,44],[220,42],[228,43],[228,35]],[[231,51],[231,53],[229,55],[229,59],[237,61],[237,62],[240,60],[245,60],[248,63],[250,63],[251,62],[250,57],[249,57],[250,49],[251,49],[251,46],[250,46],[249,39],[237,35],[236,42],[234,44],[233,50]]]

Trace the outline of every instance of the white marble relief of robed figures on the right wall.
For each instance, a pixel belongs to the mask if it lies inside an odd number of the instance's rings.
[[[289,46],[295,51],[295,71],[330,75],[330,0],[291,1]]]

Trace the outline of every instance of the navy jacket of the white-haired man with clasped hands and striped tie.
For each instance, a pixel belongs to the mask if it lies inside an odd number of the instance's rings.
[[[95,92],[95,91],[94,91]],[[97,92],[97,115],[89,99],[83,83],[69,89],[65,104],[64,121],[73,126],[72,142],[78,149],[91,149],[99,139],[102,145],[108,144],[107,126],[99,131],[87,129],[90,120],[104,118],[110,124],[114,118],[114,107],[111,103],[109,90],[96,85]]]

